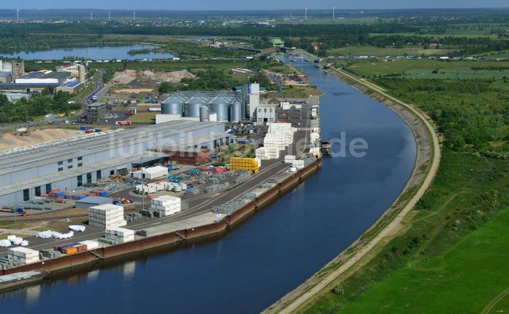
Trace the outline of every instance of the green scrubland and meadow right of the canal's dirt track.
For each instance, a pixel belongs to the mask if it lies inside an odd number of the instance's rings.
[[[430,113],[445,139],[440,169],[400,234],[363,268],[338,279],[335,293],[326,292],[303,311],[481,312],[509,288],[503,271],[509,257],[507,82],[390,77],[374,82]],[[493,112],[501,116],[493,120]],[[489,150],[500,158],[483,156]],[[507,297],[500,299],[491,311],[507,309]]]

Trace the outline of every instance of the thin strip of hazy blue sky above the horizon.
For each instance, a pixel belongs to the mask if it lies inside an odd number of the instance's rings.
[[[283,10],[326,9],[332,6],[339,9],[415,9],[415,8],[500,8],[508,7],[507,0],[186,0],[186,1],[151,1],[139,0],[87,0],[82,1],[40,1],[26,0],[21,3],[7,2],[3,9],[126,9],[126,10]]]

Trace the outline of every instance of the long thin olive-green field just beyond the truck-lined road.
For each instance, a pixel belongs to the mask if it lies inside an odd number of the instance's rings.
[[[349,46],[342,48],[335,48],[328,50],[329,55],[367,55],[367,56],[378,56],[383,57],[386,55],[395,58],[398,55],[447,55],[447,53],[456,51],[456,49],[435,49],[428,48],[424,49],[423,46],[403,46],[403,48],[395,48],[387,46],[385,48],[379,48],[375,46]]]

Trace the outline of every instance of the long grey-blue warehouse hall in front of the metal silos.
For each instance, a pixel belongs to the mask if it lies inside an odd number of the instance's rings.
[[[164,161],[153,147],[213,149],[233,142],[217,122],[173,121],[129,130],[83,134],[0,151],[0,206],[16,205],[53,189],[63,191],[144,162]]]

